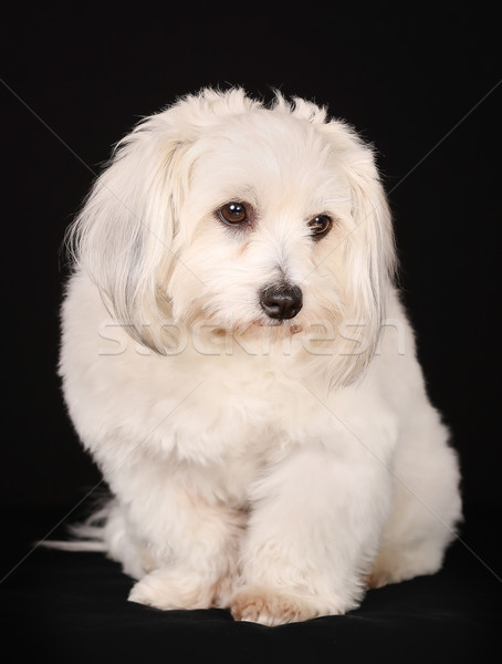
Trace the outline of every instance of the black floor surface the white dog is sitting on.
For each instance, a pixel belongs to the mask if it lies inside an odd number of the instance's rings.
[[[161,612],[126,601],[132,580],[100,553],[36,548],[64,510],[4,515],[2,632],[21,655],[51,662],[498,662],[501,661],[500,517],[468,518],[441,572],[367,593],[344,616],[265,627],[230,613]],[[30,552],[31,551],[31,552]],[[22,560],[24,558],[24,560]],[[18,566],[18,567],[14,567]],[[14,568],[14,569],[12,569]],[[4,639],[2,639],[4,642]]]

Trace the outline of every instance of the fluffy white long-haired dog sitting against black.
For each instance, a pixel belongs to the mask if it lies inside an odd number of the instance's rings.
[[[189,95],[118,144],[70,240],[60,373],[114,496],[76,546],[130,600],[275,625],[440,568],[458,463],[354,131]]]

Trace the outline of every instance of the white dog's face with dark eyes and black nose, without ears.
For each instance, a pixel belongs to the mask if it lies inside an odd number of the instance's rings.
[[[175,318],[241,332],[333,321],[352,197],[327,142],[310,123],[259,111],[226,118],[197,149],[165,284]]]

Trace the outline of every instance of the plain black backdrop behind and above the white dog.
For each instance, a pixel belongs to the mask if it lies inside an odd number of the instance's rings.
[[[488,4],[450,2],[10,8],[1,86],[3,507],[59,519],[100,480],[55,375],[65,227],[140,116],[230,84],[327,104],[375,144],[405,302],[430,395],[460,454],[464,499],[474,511],[500,507],[496,24]]]

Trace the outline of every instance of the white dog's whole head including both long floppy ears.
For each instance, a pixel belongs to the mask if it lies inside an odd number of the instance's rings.
[[[114,318],[155,351],[166,320],[334,329],[342,383],[373,355],[395,262],[370,148],[312,103],[278,94],[266,107],[242,90],[203,90],[143,121],[71,240]]]

